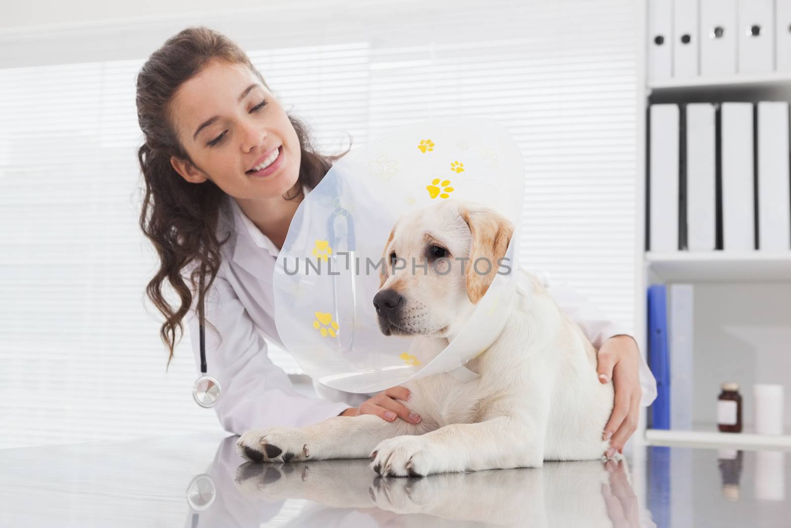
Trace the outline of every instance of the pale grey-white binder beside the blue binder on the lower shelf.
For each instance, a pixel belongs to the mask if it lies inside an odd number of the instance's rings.
[[[692,430],[693,285],[670,285],[668,341],[670,344],[670,423],[674,430]]]

